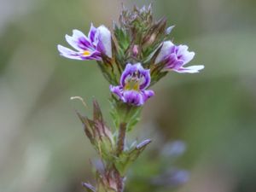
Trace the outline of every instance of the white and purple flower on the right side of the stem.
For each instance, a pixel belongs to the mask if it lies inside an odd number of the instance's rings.
[[[175,45],[171,41],[165,41],[160,49],[159,55],[155,59],[158,64],[162,61],[166,62],[164,70],[173,70],[177,73],[198,73],[204,66],[183,67],[191,61],[195,53],[189,52],[187,45]]]

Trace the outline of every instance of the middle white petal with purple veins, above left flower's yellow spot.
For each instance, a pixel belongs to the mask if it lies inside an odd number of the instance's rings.
[[[66,35],[65,38],[68,44],[79,51],[83,49],[95,49],[90,43],[90,39],[77,29],[73,30],[73,36]]]

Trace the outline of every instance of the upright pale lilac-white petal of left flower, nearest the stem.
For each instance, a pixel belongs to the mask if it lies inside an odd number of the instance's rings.
[[[98,38],[96,49],[112,58],[111,32],[106,26],[99,26],[96,36]]]

